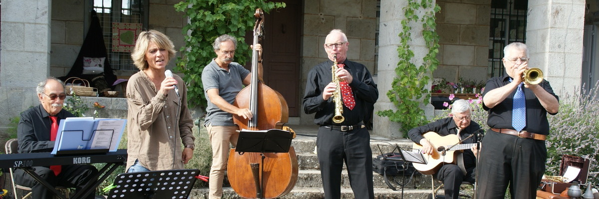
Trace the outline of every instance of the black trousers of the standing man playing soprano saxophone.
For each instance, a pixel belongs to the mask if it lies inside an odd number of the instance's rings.
[[[341,198],[344,161],[354,197],[374,198],[373,158],[366,128],[343,132],[320,127],[316,146],[325,198]]]

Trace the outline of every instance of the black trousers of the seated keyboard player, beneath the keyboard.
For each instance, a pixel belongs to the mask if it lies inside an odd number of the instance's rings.
[[[41,178],[46,179],[50,185],[75,188],[75,191],[77,192],[81,191],[81,188],[83,188],[87,182],[95,182],[98,180],[93,178],[96,174],[98,174],[98,169],[89,164],[63,165],[62,171],[58,174],[58,176],[55,176],[54,172],[48,167],[34,167],[34,169],[35,173],[40,175]],[[35,181],[31,175],[25,173],[21,169],[14,171],[14,180],[19,185],[31,187],[33,198],[52,199],[55,195],[52,191],[47,189],[41,183]],[[93,199],[94,197],[95,191],[84,198]]]

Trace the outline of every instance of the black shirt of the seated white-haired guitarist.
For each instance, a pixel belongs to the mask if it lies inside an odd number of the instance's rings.
[[[478,130],[480,130],[480,125],[474,121],[470,121],[470,125],[460,131],[459,139],[465,139],[471,134],[477,133],[476,131]],[[412,128],[408,131],[408,136],[413,142],[419,144],[420,140],[424,138],[422,134],[429,131],[435,132],[440,136],[447,136],[448,134],[458,134],[458,126],[455,125],[455,121],[453,121],[452,117],[443,118],[426,125]],[[478,137],[474,134],[474,136],[469,139],[463,140],[462,143],[476,143],[477,140]],[[464,150],[464,167],[470,168],[474,166],[476,166],[476,157],[474,157],[473,152],[469,149]]]

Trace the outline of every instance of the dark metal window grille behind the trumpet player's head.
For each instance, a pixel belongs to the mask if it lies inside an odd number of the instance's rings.
[[[526,41],[528,0],[492,0],[489,24],[489,74],[505,74],[501,62],[503,48],[512,42]]]

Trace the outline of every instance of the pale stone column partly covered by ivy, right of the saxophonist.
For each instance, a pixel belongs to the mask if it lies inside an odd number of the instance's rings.
[[[391,89],[391,83],[397,76],[394,69],[397,67],[399,57],[397,47],[400,45],[398,34],[402,32],[401,20],[405,19],[403,8],[407,6],[404,0],[382,0],[380,2],[380,36],[379,36],[379,65],[378,65],[378,88],[379,100],[374,104],[374,112],[392,109],[397,110],[395,105],[387,97]],[[418,13],[422,16],[422,13]],[[421,17],[420,17],[421,18]],[[412,41],[410,50],[414,51],[415,65],[422,65],[422,57],[428,53],[424,39],[422,38],[422,26],[412,25]],[[431,74],[429,74],[431,75]],[[430,87],[430,85],[427,85]],[[434,108],[430,103],[422,105],[426,115],[433,115]],[[373,133],[386,137],[402,137],[407,132],[400,132],[401,125],[389,121],[387,117],[374,116]]]

